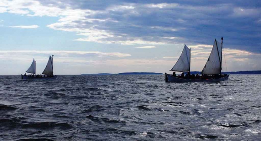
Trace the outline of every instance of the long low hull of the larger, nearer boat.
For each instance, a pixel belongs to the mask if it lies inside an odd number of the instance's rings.
[[[217,78],[217,79],[184,79],[172,76],[170,74],[165,74],[165,81],[166,82],[219,82],[219,81],[225,81],[229,77],[229,74],[227,76]]]

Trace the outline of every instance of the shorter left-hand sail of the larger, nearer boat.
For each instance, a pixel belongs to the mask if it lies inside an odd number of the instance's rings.
[[[171,69],[172,71],[190,71],[190,49],[185,45],[180,58]]]

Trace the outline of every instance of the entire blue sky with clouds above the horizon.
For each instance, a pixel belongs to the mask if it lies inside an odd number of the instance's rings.
[[[261,70],[261,1],[0,0],[0,75],[171,73],[184,44],[201,71],[221,37],[222,71]]]

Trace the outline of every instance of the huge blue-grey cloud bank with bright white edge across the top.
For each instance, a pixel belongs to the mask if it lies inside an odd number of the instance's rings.
[[[75,41],[104,44],[210,44],[226,36],[229,48],[260,51],[260,5],[250,0],[204,2],[2,0],[0,13],[57,17],[47,25],[75,32]],[[237,35],[237,38],[234,38]],[[244,41],[244,44],[242,44]],[[251,46],[249,48],[248,46]],[[192,47],[193,48],[193,47]]]

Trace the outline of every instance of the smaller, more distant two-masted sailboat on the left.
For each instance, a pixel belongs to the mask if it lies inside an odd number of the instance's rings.
[[[46,65],[44,71],[42,72],[43,76],[36,75],[36,61],[33,60],[29,69],[25,71],[25,72],[31,73],[31,75],[26,75],[26,73],[25,73],[24,75],[21,75],[22,79],[54,79],[54,78],[56,78],[57,76],[53,75],[54,74],[53,58],[54,58],[54,55],[52,55],[52,57],[50,55],[47,65]]]

